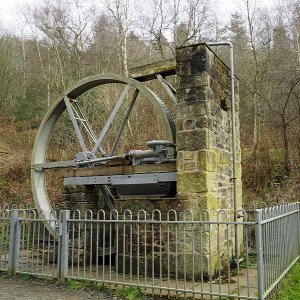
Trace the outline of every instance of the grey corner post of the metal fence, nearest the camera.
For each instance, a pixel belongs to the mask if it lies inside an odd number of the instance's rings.
[[[262,214],[260,209],[255,210],[255,240],[257,253],[257,287],[258,299],[264,299],[264,269],[263,269],[263,244],[262,244]]]

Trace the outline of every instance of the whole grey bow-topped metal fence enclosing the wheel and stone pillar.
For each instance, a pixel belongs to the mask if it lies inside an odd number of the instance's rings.
[[[265,299],[299,258],[299,204],[242,210],[232,220],[225,210],[100,210],[45,221],[35,210],[6,209],[0,268],[160,296]]]

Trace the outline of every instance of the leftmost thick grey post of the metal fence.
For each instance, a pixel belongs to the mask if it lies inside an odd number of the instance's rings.
[[[13,209],[11,212],[8,251],[8,274],[15,275],[18,270],[20,252],[20,224],[17,209]]]

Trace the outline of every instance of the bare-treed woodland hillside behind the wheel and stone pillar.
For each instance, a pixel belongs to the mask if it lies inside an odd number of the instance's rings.
[[[0,22],[0,206],[32,201],[36,130],[66,88],[99,73],[126,75],[132,67],[173,58],[176,47],[207,41],[234,45],[244,201],[299,201],[300,2],[280,0],[268,9],[254,0],[239,3],[229,22],[210,0],[20,5],[16,28]],[[227,61],[226,50],[216,51]],[[110,97],[102,95],[104,112]],[[141,120],[151,128],[147,113],[132,123]],[[151,140],[150,129],[144,135]]]

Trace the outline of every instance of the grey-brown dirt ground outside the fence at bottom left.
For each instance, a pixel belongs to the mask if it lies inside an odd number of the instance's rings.
[[[60,283],[46,280],[0,278],[0,300],[117,300],[111,294],[93,290],[70,291]]]

